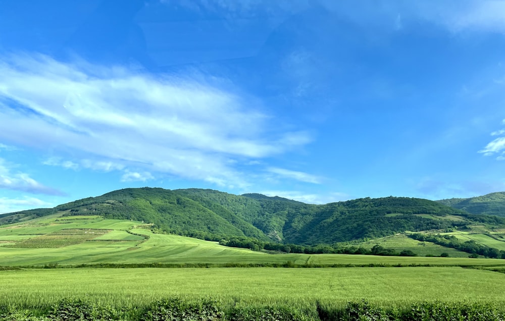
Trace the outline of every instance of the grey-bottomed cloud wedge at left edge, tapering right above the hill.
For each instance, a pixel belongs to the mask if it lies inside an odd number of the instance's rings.
[[[13,172],[5,159],[0,158],[0,189],[24,191],[35,194],[63,195],[62,192],[42,185],[28,174]]]

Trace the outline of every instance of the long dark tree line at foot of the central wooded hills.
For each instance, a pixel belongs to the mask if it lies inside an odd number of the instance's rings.
[[[403,250],[396,252],[394,249],[385,248],[381,245],[375,245],[371,249],[366,247],[356,246],[343,246],[341,244],[334,244],[333,246],[327,244],[318,245],[297,245],[297,244],[281,244],[263,242],[250,237],[232,237],[229,239],[222,239],[219,244],[247,248],[253,251],[276,251],[284,253],[305,253],[305,254],[364,254],[364,255],[383,255],[383,256],[416,256],[417,254],[410,250]]]

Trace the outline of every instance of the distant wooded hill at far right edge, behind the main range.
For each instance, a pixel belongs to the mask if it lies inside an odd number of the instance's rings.
[[[438,202],[472,214],[505,217],[505,192],[490,193],[471,198],[441,199]]]

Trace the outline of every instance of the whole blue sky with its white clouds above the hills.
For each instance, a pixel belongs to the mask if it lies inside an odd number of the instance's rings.
[[[505,190],[505,1],[0,0],[0,212]]]

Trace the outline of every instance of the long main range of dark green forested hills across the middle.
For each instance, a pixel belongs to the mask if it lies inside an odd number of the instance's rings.
[[[37,216],[100,215],[154,224],[166,233],[220,240],[246,236],[285,244],[333,244],[403,231],[440,230],[498,217],[475,216],[419,198],[360,198],[324,205],[261,194],[233,195],[216,190],[127,188],[98,197],[0,216],[0,224]]]

